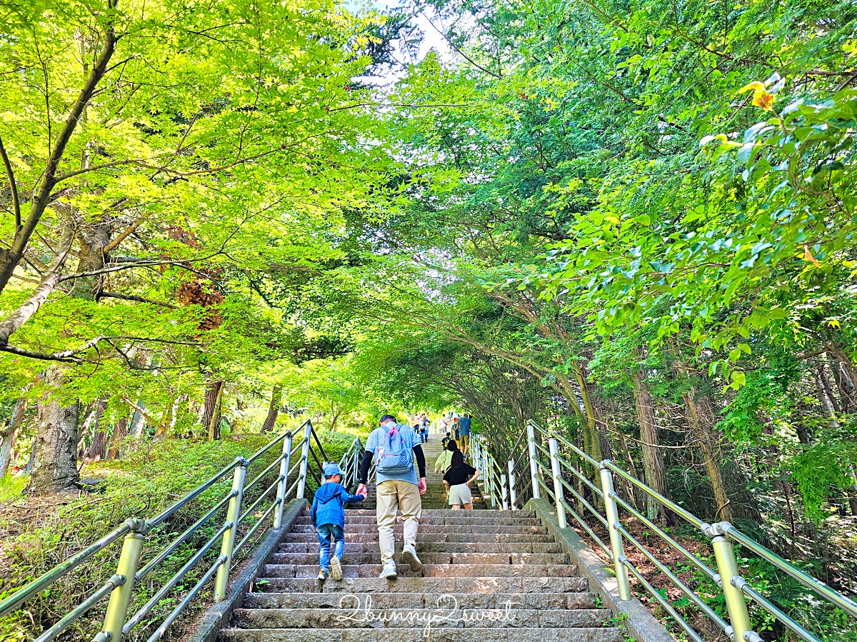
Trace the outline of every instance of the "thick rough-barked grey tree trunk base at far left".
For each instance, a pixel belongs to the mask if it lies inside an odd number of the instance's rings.
[[[63,385],[61,367],[48,369],[45,384],[48,391],[39,400],[36,455],[27,485],[30,495],[76,490],[81,481],[77,474],[77,424],[81,418],[81,404],[75,400],[69,405],[60,405],[49,398],[51,388]]]

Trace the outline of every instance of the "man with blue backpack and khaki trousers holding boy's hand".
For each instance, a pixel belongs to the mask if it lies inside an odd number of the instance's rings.
[[[375,520],[378,523],[378,544],[381,548],[381,575],[383,579],[396,578],[393,561],[396,511],[405,520],[405,548],[402,556],[411,571],[422,571],[423,562],[417,556],[417,527],[423,513],[420,495],[426,492],[426,458],[414,431],[396,423],[393,415],[384,415],[378,428],[369,433],[366,452],[360,463],[360,485],[357,494],[366,493],[369,466],[375,459]],[[417,467],[414,465],[417,459]]]

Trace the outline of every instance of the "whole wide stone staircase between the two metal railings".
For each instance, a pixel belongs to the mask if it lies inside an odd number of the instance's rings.
[[[423,572],[400,563],[397,525],[399,579],[378,579],[370,492],[368,502],[345,513],[345,578],[315,579],[318,540],[305,511],[257,580],[262,592],[245,597],[220,642],[620,642],[621,629],[607,624],[610,611],[596,608],[535,513],[485,510],[476,492],[482,510],[448,509],[434,475],[440,441],[423,449]]]

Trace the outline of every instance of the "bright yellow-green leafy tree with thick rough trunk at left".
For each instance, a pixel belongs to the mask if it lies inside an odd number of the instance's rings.
[[[270,291],[341,257],[343,208],[377,207],[391,162],[364,144],[374,100],[351,87],[383,49],[367,46],[381,18],[326,0],[19,3],[5,18],[0,364],[52,362],[31,488],[68,489],[81,405],[108,393],[118,432],[118,413],[155,400],[117,376],[155,375],[144,392],[171,399],[135,426],[163,433],[200,363],[237,361],[234,376],[301,343],[272,322]],[[214,381],[211,438],[228,383]]]

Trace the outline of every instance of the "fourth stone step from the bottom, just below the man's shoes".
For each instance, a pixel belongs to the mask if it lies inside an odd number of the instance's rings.
[[[399,577],[387,580],[374,578],[345,578],[341,582],[329,579],[320,582],[312,578],[262,578],[258,586],[265,593],[485,593],[499,596],[507,593],[579,593],[588,591],[586,580],[578,577],[521,578],[521,577]]]

